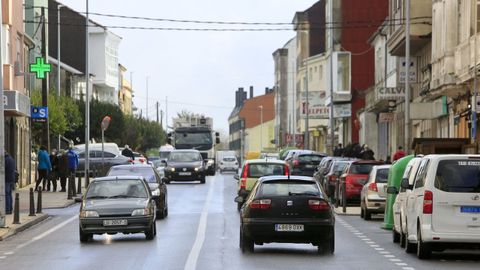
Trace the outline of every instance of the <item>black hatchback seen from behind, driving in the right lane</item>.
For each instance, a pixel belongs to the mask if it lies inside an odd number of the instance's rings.
[[[335,249],[332,206],[311,177],[260,178],[241,209],[240,222],[242,252],[271,242],[311,243],[319,253]]]

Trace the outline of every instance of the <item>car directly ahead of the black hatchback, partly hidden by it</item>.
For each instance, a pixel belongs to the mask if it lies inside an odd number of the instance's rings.
[[[242,171],[234,178],[238,181],[237,194],[243,198],[247,198],[258,178],[266,175],[288,175],[289,168],[285,161],[276,159],[251,159],[243,163]],[[237,204],[237,209],[242,207],[241,202]]]

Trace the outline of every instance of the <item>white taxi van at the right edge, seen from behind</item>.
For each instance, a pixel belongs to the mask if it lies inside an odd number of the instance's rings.
[[[403,188],[409,188],[402,181]],[[406,202],[407,252],[480,248],[480,155],[422,158]]]

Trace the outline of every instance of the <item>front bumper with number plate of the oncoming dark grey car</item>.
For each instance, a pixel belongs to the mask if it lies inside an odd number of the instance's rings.
[[[126,226],[103,226],[104,220],[126,219]],[[80,228],[84,233],[103,234],[103,233],[138,233],[144,232],[155,222],[154,216],[139,217],[100,217],[100,218],[81,218]]]

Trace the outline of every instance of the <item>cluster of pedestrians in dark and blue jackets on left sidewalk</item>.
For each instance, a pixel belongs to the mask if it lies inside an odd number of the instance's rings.
[[[66,191],[67,178],[75,175],[78,167],[78,155],[69,148],[68,151],[54,149],[48,154],[45,146],[40,147],[38,152],[38,178],[36,180],[35,190],[39,190],[42,184],[43,191],[57,191],[57,181],[60,179],[60,191]]]

